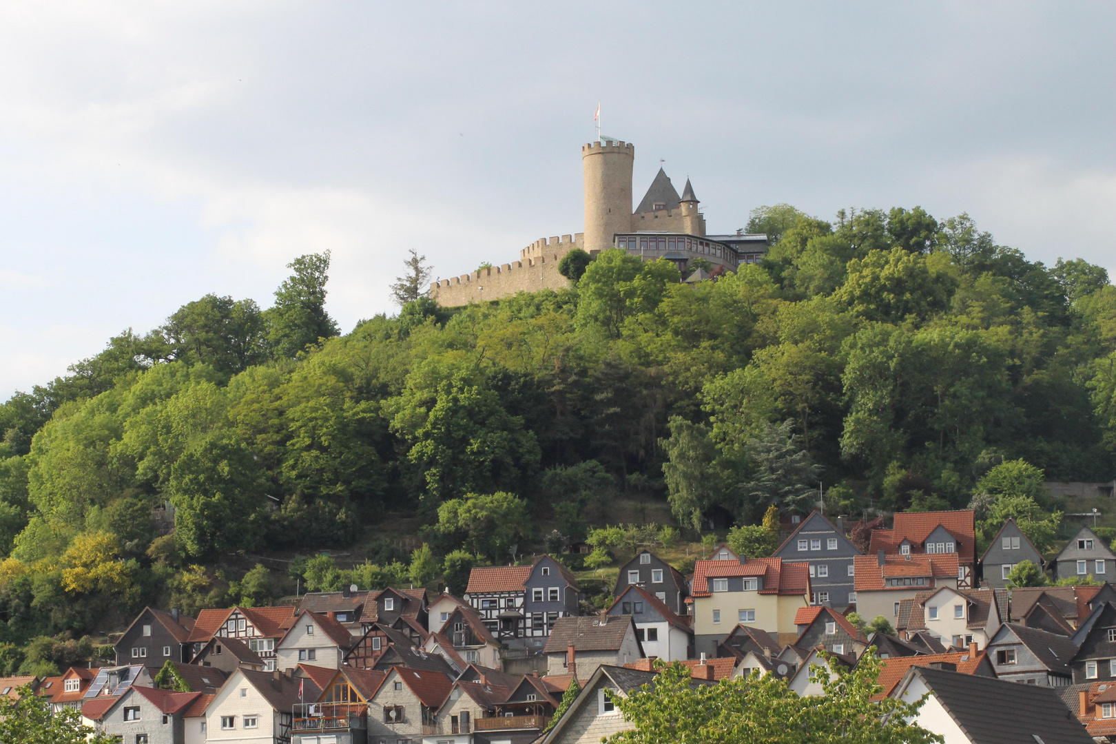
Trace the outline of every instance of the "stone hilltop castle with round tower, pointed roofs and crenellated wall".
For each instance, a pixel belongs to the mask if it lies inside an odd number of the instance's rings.
[[[622,248],[646,261],[666,259],[677,264],[687,281],[735,271],[741,263],[757,263],[767,252],[767,235],[705,233],[705,216],[686,178],[679,195],[663,168],[651,182],[643,201],[632,211],[632,166],[635,146],[610,137],[581,147],[585,175],[585,232],[540,238],[519,252],[519,261],[480,269],[430,286],[430,296],[443,307],[483,302],[519,291],[569,287],[558,273],[558,262],[575,248],[589,254]],[[692,271],[694,265],[700,267]]]

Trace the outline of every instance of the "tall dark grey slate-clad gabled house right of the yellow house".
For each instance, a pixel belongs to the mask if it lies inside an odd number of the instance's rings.
[[[844,608],[856,603],[853,558],[862,553],[820,512],[811,512],[771,554],[810,567],[811,605]]]

